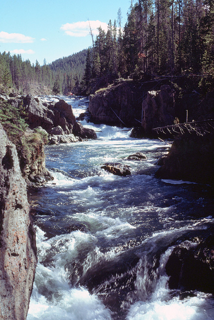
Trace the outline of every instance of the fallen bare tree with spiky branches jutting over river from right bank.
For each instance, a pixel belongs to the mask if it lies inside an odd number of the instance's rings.
[[[184,134],[185,132],[195,132],[197,135],[204,135],[206,133],[210,133],[214,130],[214,120],[200,120],[200,121],[192,121],[192,122],[184,122],[166,126],[159,126],[153,128],[157,133],[164,133],[166,134],[167,131],[170,134],[173,133],[181,133]]]

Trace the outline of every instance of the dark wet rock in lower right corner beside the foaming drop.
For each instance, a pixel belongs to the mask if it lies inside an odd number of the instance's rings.
[[[170,288],[214,292],[213,227],[203,233],[202,239],[184,241],[173,249],[166,263]]]

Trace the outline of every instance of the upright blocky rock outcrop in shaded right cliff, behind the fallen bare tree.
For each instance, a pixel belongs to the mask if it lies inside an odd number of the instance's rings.
[[[175,118],[175,91],[167,84],[158,91],[148,91],[142,102],[142,127],[144,134],[152,134],[152,128],[173,124]]]

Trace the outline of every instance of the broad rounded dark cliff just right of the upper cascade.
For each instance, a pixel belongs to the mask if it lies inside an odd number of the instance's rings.
[[[140,83],[127,80],[89,96],[91,121],[109,125],[136,125],[141,119]]]

